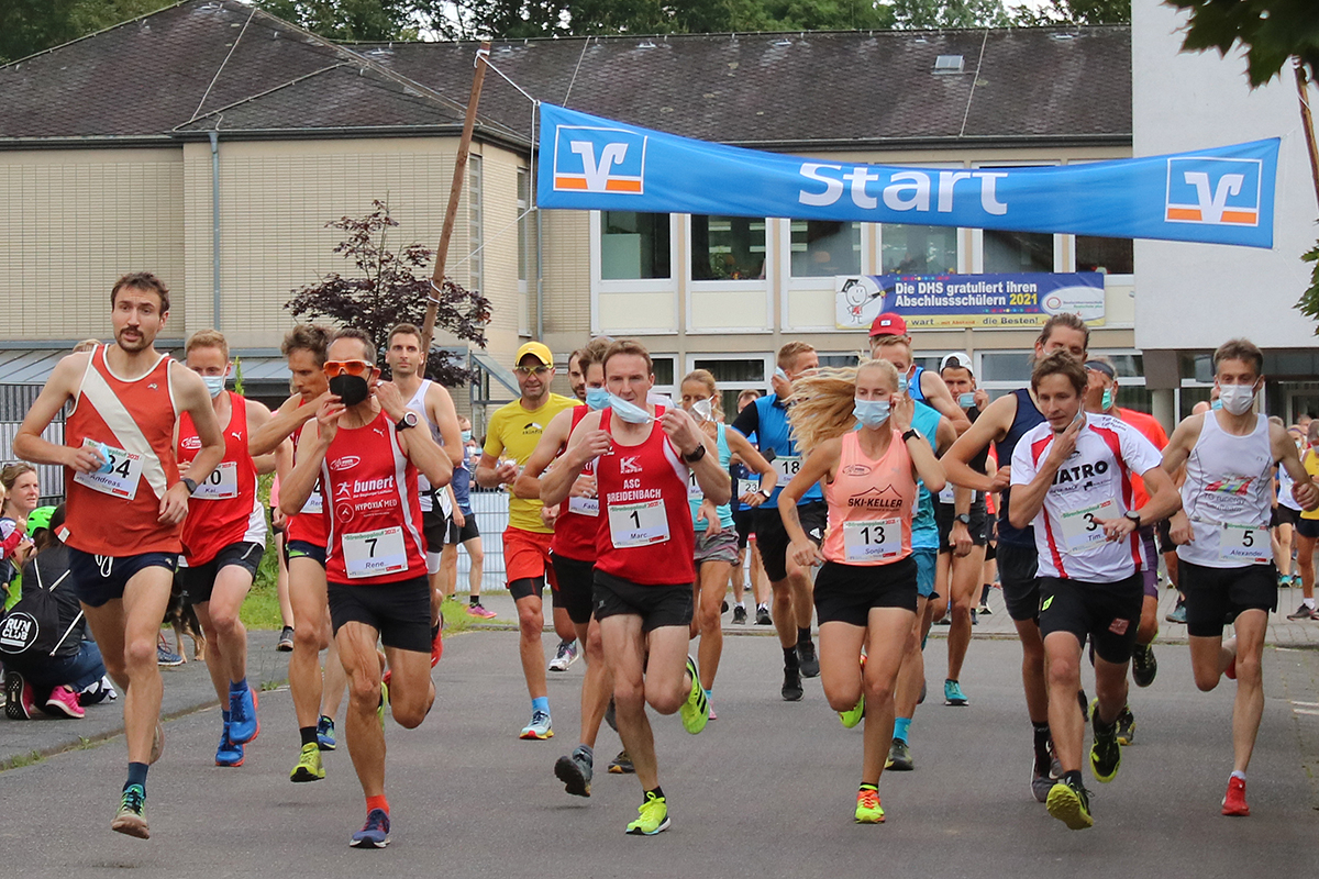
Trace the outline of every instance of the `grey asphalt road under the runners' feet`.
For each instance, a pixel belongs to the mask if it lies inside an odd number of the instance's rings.
[[[719,720],[699,737],[656,718],[661,783],[673,828],[628,837],[640,787],[604,772],[617,750],[603,730],[588,800],[563,792],[555,758],[576,745],[582,664],[550,676],[555,738],[522,742],[528,702],[513,633],[451,638],[435,671],[435,709],[421,729],[388,727],[392,845],[350,849],[361,792],[348,754],[327,779],[294,785],[297,754],[285,691],[261,700],[262,731],[245,766],[212,764],[219,714],[168,723],[152,770],[153,838],[109,832],[123,783],[123,738],[0,772],[0,863],[20,876],[919,876],[1293,875],[1311,862],[1319,821],[1319,652],[1270,648],[1268,705],[1250,767],[1253,816],[1224,818],[1232,685],[1200,693],[1184,646],[1158,648],[1159,677],[1133,691],[1136,745],[1108,785],[1091,779],[1096,826],[1070,832],[1028,791],[1030,727],[1020,651],[977,639],[967,708],[933,700],[913,725],[917,771],[886,774],[888,822],[852,824],[860,730],[844,730],[818,681],[778,697],[773,638],[725,640]],[[546,646],[553,638],[546,637]],[[930,692],[944,646],[930,642]],[[1310,712],[1310,713],[1306,713]],[[3,733],[0,733],[3,734]]]

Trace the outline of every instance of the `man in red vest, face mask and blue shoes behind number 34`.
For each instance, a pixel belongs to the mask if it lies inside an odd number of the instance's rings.
[[[270,420],[270,410],[224,390],[233,364],[230,344],[215,329],[199,329],[183,349],[187,368],[211,394],[218,424],[224,426],[224,459],[187,502],[179,585],[197,610],[206,635],[206,668],[220,700],[216,766],[243,766],[243,746],[256,738],[256,692],[247,681],[247,629],[239,618],[265,553],[265,510],[256,492],[257,473],[274,472],[274,456],[255,461],[248,438]],[[177,455],[187,467],[202,440],[187,412],[179,416]],[[276,453],[288,455],[281,444]]]

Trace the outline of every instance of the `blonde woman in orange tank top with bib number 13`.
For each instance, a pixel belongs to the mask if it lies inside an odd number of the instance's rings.
[[[791,557],[803,567],[823,561],[815,580],[820,681],[843,726],[865,720],[856,821],[880,824],[893,687],[915,621],[915,481],[938,493],[943,467],[911,430],[914,405],[898,394],[898,374],[888,361],[803,377],[793,385],[789,405],[798,448],[809,457],[780,493],[778,509]],[[797,501],[820,480],[828,528],[816,550],[797,518]]]

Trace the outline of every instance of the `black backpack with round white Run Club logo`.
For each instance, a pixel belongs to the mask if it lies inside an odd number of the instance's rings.
[[[82,622],[82,610],[70,618],[70,600],[77,602],[77,598],[69,550],[63,544],[50,547],[29,560],[22,573],[25,588],[18,604],[0,617],[0,655],[73,656],[82,640],[73,637]]]

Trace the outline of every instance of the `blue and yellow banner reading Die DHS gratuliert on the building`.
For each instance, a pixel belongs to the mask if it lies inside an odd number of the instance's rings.
[[[907,329],[1031,328],[1062,312],[1104,324],[1099,271],[838,275],[834,287],[839,329],[869,329],[886,311],[902,315]]]

